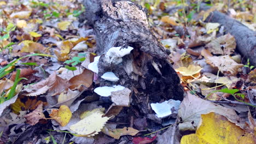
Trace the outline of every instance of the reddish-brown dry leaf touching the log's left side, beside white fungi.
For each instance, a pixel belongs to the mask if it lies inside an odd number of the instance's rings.
[[[94,79],[94,73],[91,70],[84,69],[82,74],[72,77],[69,82],[71,83],[70,89],[78,89],[80,86],[90,87],[92,80]]]

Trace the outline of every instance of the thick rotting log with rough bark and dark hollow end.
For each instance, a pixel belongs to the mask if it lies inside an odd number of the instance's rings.
[[[129,1],[85,0],[85,17],[94,27],[97,53],[101,55],[99,76],[113,71],[118,84],[133,91],[133,105],[142,113],[149,112],[149,101],[183,99],[183,88],[170,59],[158,39],[150,31],[148,17],[137,4]],[[133,47],[121,64],[108,63],[104,54],[111,48]],[[101,85],[113,85],[102,82]],[[117,83],[115,83],[117,84]]]

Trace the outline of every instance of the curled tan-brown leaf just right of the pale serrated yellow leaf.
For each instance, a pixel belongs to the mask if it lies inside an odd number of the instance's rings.
[[[136,135],[137,133],[139,133],[139,130],[137,129],[133,129],[131,127],[129,128],[126,128],[124,127],[123,129],[114,129],[114,130],[110,130],[106,127],[104,127],[102,129],[102,132],[106,135],[109,135],[111,137],[113,137],[114,139],[119,139],[120,136],[123,136],[123,135],[131,135],[131,136],[134,136]]]

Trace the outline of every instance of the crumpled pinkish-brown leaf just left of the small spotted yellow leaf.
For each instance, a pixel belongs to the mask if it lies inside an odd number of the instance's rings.
[[[29,123],[31,125],[37,124],[40,119],[43,119],[43,122],[46,122],[46,118],[45,118],[44,113],[43,113],[43,103],[40,103],[37,106],[37,109],[28,113],[24,117],[27,119],[27,123]]]

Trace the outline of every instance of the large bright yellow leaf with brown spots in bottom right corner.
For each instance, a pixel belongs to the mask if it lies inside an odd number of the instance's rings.
[[[195,134],[183,136],[181,144],[193,143],[254,143],[256,137],[247,133],[222,115],[211,112],[201,115],[201,124]]]

